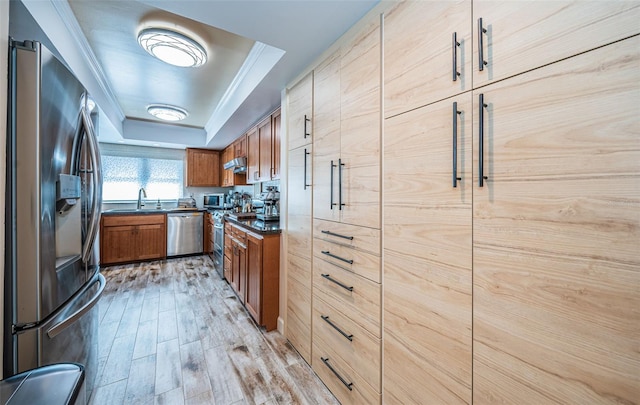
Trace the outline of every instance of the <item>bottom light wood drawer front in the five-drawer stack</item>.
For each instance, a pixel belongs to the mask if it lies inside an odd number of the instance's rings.
[[[332,347],[322,340],[313,341],[311,366],[342,405],[380,404],[381,395],[367,384],[358,373],[355,373],[336,354]],[[333,368],[333,370],[329,367]],[[350,384],[351,389],[349,390],[345,384]]]

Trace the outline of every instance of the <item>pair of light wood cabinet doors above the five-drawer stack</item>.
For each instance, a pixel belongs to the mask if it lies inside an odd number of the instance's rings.
[[[315,71],[314,217],[380,228],[380,22]]]

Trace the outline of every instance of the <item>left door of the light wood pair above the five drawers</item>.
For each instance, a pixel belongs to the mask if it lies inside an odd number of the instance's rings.
[[[340,52],[315,70],[313,140],[313,216],[337,221],[340,157]]]

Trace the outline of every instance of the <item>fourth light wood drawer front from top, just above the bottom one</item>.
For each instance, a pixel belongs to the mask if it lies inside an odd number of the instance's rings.
[[[381,343],[319,298],[313,301],[313,341],[321,340],[376,392],[381,391]]]

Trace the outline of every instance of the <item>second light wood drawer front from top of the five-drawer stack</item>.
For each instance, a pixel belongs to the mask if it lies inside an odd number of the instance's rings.
[[[333,265],[380,283],[380,256],[322,239],[316,239],[316,243],[313,244],[313,255],[316,259],[326,260]]]

